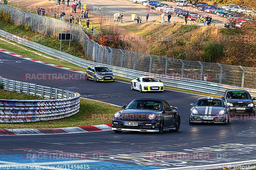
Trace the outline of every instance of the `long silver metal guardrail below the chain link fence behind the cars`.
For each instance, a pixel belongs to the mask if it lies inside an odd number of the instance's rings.
[[[150,75],[155,76],[159,79],[161,79],[166,86],[170,87],[176,87],[181,89],[187,89],[187,90],[193,90],[197,92],[205,92],[210,94],[218,94],[222,95],[225,90],[227,89],[244,89],[251,93],[252,97],[256,97],[256,89],[250,89],[250,88],[243,88],[243,87],[237,87],[237,86],[231,86],[231,85],[223,85],[218,83],[212,83],[212,82],[206,82],[206,81],[200,81],[200,80],[193,80],[193,79],[187,79],[187,78],[177,78],[172,76],[166,76],[161,74],[154,74],[149,72],[143,72],[138,70],[132,70],[132,69],[126,69],[122,67],[116,67],[111,66],[107,64],[101,64],[96,62],[87,61],[78,57],[75,57],[73,55],[69,55],[66,53],[63,53],[61,51],[45,47],[43,45],[37,44],[33,41],[28,41],[26,39],[20,38],[16,35],[13,35],[11,33],[7,33],[3,30],[0,30],[0,36],[3,36],[9,40],[15,41],[21,45],[33,48],[35,50],[41,51],[45,54],[52,55],[54,57],[60,58],[64,61],[67,61],[69,63],[73,63],[77,66],[87,68],[89,65],[103,65],[111,70],[113,70],[113,73],[116,76],[124,77],[124,78],[137,78],[143,75]],[[95,50],[92,52],[92,56],[95,55]],[[121,57],[120,57],[121,58]]]

